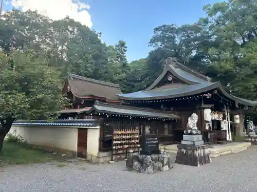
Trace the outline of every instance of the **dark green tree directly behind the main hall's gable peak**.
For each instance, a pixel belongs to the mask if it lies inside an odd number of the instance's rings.
[[[199,71],[209,64],[208,47],[211,43],[208,18],[200,18],[193,25],[162,25],[154,29],[149,46],[154,50],[148,55],[145,79],[151,84],[161,73],[167,57],[174,57],[188,67]],[[205,61],[205,62],[203,62]]]

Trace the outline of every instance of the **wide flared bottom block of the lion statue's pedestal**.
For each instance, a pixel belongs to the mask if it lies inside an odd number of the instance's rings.
[[[175,163],[199,167],[211,162],[209,145],[178,144],[177,148]]]

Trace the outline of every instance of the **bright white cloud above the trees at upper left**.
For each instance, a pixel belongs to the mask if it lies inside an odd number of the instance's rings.
[[[59,20],[65,16],[80,22],[87,27],[92,27],[91,17],[88,13],[90,8],[88,4],[72,0],[11,0],[11,4],[15,8],[22,11],[38,10],[42,15],[45,15],[53,20]]]

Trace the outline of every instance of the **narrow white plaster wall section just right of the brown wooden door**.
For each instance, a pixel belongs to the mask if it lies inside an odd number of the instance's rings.
[[[87,154],[97,156],[99,152],[100,127],[87,130]]]

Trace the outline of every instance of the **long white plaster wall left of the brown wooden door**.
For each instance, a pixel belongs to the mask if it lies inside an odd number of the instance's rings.
[[[77,152],[78,129],[61,126],[16,126],[13,125],[9,133],[17,135],[29,144],[58,147],[63,150]]]

